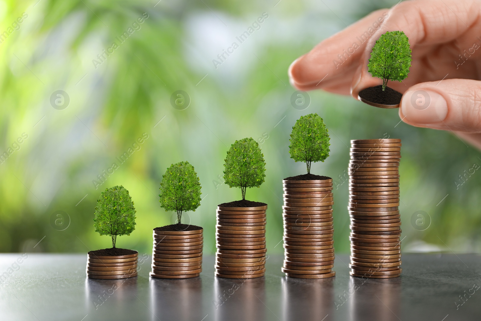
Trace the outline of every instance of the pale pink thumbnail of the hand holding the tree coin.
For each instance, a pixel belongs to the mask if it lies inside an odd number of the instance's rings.
[[[417,124],[440,123],[448,114],[443,96],[431,90],[409,90],[403,95],[401,112],[407,120]]]

